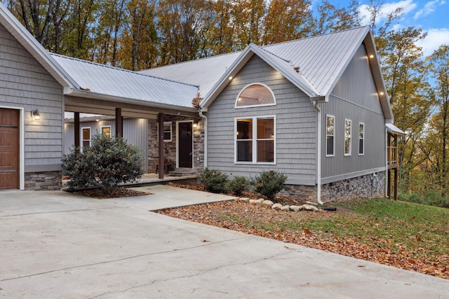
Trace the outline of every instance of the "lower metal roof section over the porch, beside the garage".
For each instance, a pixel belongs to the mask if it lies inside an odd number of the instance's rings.
[[[198,86],[156,78],[104,64],[51,54],[71,78],[76,89],[112,97],[192,108]]]

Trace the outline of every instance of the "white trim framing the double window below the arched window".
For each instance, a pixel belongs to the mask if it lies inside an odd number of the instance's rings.
[[[237,120],[240,119],[253,119],[253,161],[237,161]],[[259,118],[273,118],[273,130],[274,130],[274,139],[273,139],[273,162],[257,162],[257,119]],[[234,164],[250,164],[250,165],[276,165],[276,116],[240,116],[238,118],[234,118]],[[272,140],[272,139],[264,139],[264,140]]]

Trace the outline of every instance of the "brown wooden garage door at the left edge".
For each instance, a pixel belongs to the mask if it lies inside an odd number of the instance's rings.
[[[0,190],[19,188],[19,111],[0,108]]]

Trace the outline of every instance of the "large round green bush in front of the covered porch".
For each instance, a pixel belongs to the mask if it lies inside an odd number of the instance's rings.
[[[96,135],[82,152],[72,148],[62,158],[62,175],[69,190],[94,187],[110,195],[119,183],[132,182],[143,174],[144,160],[138,146],[121,137]]]

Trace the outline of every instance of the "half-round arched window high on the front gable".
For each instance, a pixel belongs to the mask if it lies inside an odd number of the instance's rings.
[[[240,92],[236,100],[237,107],[275,105],[276,101],[272,90],[266,85],[257,83],[248,85]]]

